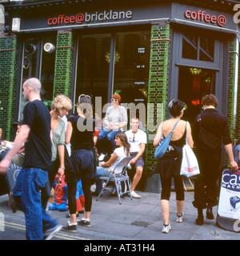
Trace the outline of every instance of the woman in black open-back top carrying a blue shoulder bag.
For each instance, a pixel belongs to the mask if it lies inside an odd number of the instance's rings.
[[[154,146],[158,146],[160,139],[162,137],[166,138],[166,136],[173,129],[175,123],[178,122],[172,134],[170,146],[168,147],[168,150],[166,150],[166,154],[164,154],[163,157],[159,160],[158,165],[155,169],[155,172],[160,174],[162,184],[162,233],[169,233],[169,231],[171,230],[169,222],[171,178],[174,178],[174,189],[176,191],[176,222],[183,221],[182,208],[184,205],[184,188],[182,183],[182,176],[180,176],[180,168],[182,163],[182,147],[186,143],[186,122],[180,119],[182,118],[185,108],[184,103],[177,99],[172,100],[169,103],[168,107],[172,118],[161,122],[160,126],[158,127],[157,134],[154,138]],[[194,142],[191,135],[190,124],[188,124],[187,134],[187,142],[190,147],[193,147]]]

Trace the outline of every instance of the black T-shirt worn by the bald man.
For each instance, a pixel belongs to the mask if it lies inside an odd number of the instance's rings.
[[[51,165],[50,112],[40,100],[28,102],[23,110],[23,125],[30,126],[25,143],[23,167],[49,170]]]

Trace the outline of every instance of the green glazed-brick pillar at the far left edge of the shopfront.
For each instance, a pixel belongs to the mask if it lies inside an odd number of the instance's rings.
[[[0,37],[0,127],[2,139],[13,140],[15,96],[18,69],[18,39],[15,36]]]

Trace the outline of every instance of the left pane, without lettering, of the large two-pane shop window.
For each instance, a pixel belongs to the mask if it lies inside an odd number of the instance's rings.
[[[102,97],[107,103],[110,63],[110,34],[82,35],[78,43],[78,66],[75,101],[80,94]],[[100,111],[100,110],[99,110]]]

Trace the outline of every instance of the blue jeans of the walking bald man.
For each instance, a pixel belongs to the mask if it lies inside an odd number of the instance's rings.
[[[21,194],[28,240],[42,240],[46,230],[58,225],[42,207],[40,190],[45,186],[47,177],[48,173],[45,170],[22,168],[14,187],[14,198]]]

